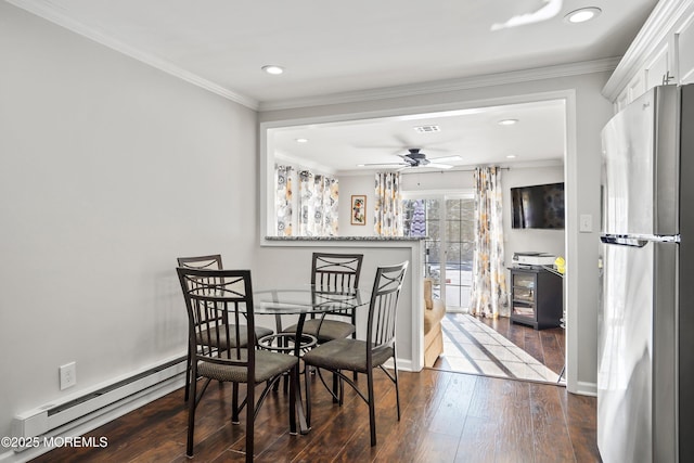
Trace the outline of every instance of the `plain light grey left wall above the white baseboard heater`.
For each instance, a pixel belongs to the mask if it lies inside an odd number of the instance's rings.
[[[176,257],[254,265],[257,123],[7,2],[0,62],[8,436],[17,412],[185,352]]]

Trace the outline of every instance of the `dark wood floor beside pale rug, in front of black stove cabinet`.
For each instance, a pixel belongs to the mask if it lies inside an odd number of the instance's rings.
[[[447,314],[447,317],[451,316],[451,313]],[[524,324],[511,323],[511,319],[507,317],[497,319],[477,317],[476,319],[528,352],[553,372],[560,374],[564,368],[566,358],[564,329],[535,330]],[[446,360],[440,358],[434,368],[449,370]]]

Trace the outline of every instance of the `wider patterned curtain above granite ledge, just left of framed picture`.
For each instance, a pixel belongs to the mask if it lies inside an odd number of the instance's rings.
[[[299,172],[299,236],[337,235],[338,181],[327,176]]]

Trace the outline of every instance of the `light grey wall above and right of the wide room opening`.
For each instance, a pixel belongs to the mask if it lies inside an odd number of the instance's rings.
[[[611,103],[601,90],[608,72],[581,76],[494,85],[433,94],[381,99],[368,102],[326,104],[294,110],[261,112],[261,127],[292,121],[336,121],[387,117],[420,112],[472,108],[537,100],[564,99],[567,107],[566,240],[568,310],[567,387],[595,394],[597,355],[597,249],[599,235],[578,233],[579,216],[600,217],[600,131],[612,116]],[[262,133],[260,134],[262,137]],[[580,189],[579,189],[580,182]]]

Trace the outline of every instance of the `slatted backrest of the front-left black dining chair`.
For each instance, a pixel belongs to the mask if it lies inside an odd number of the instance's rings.
[[[177,272],[194,364],[203,360],[253,370],[255,350],[245,347],[255,338],[250,271],[179,267]]]

